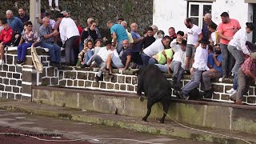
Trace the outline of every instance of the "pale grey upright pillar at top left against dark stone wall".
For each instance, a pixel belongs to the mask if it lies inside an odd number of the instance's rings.
[[[30,0],[30,21],[33,23],[34,30],[39,30],[38,18],[41,16],[41,0]]]

